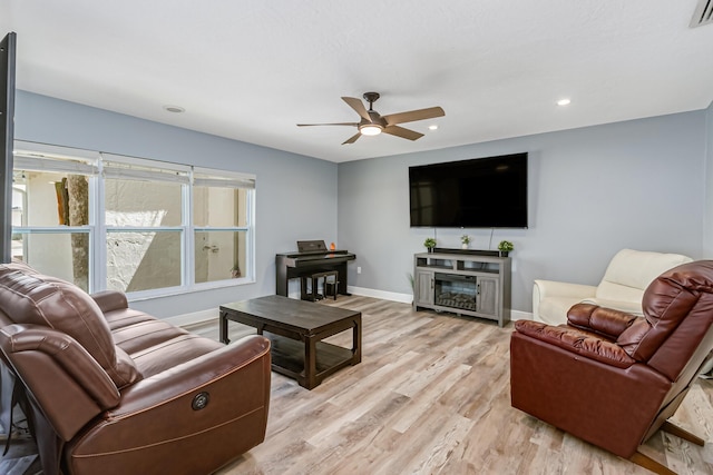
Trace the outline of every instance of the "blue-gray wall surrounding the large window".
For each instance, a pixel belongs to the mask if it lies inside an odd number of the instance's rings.
[[[14,137],[45,144],[255,174],[256,283],[137,301],[156,316],[216,308],[275,293],[275,253],[297,239],[336,241],[335,164],[17,92]],[[293,283],[294,287],[295,283]]]

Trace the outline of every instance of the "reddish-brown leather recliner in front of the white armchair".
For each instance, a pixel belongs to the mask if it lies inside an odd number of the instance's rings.
[[[644,316],[589,304],[568,323],[519,320],[510,339],[511,403],[546,423],[658,473],[637,452],[666,419],[713,349],[713,260],[684,264],[645,290]]]

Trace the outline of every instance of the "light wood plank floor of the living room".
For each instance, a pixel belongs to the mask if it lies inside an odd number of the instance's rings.
[[[362,363],[313,390],[273,373],[265,442],[219,474],[649,473],[510,407],[512,324],[356,296],[320,305],[362,311]],[[201,333],[217,339],[217,324]],[[713,383],[699,379],[673,420],[711,442]],[[713,474],[713,444],[660,432],[642,452]]]

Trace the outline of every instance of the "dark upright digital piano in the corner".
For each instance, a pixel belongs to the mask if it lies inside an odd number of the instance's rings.
[[[299,240],[296,253],[281,253],[275,255],[276,293],[287,296],[290,279],[309,276],[325,270],[339,273],[338,293],[346,291],[346,263],[356,256],[346,250],[330,250],[323,240]]]

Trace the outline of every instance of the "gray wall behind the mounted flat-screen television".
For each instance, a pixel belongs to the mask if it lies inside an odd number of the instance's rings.
[[[701,258],[705,145],[706,111],[694,111],[341,164],[339,240],[362,268],[350,266],[350,285],[411,294],[412,255],[434,235],[446,248],[462,234],[477,249],[511,240],[521,311],[531,311],[534,279],[595,285],[622,248]],[[529,152],[528,229],[409,227],[409,166],[520,151]]]

